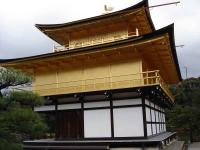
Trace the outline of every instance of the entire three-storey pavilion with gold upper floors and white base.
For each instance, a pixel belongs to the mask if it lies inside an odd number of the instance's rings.
[[[156,30],[148,1],[63,24],[36,24],[60,44],[52,53],[0,60],[34,76],[45,97],[34,111],[49,115],[54,138],[24,141],[24,150],[161,149],[168,85],[181,79],[174,25]],[[152,149],[153,149],[152,148]]]

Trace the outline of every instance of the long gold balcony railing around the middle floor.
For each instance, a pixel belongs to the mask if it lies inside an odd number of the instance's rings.
[[[129,87],[143,87],[151,85],[160,85],[165,93],[173,100],[173,96],[168,89],[168,85],[161,78],[158,70],[69,82],[58,81],[56,83],[37,84],[33,86],[33,90],[41,95],[49,95],[110,90]]]

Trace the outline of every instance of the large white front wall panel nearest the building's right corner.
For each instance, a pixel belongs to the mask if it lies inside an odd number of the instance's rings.
[[[142,114],[141,107],[114,108],[115,137],[144,136]]]

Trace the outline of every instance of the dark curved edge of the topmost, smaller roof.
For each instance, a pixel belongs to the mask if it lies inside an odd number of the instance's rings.
[[[153,21],[151,19],[150,12],[149,12],[149,2],[148,2],[148,0],[142,0],[141,2],[139,2],[139,3],[137,3],[133,6],[130,6],[128,8],[125,8],[125,9],[122,9],[122,10],[119,10],[119,11],[116,11],[116,12],[104,14],[104,15],[94,16],[94,17],[91,17],[91,18],[81,19],[81,20],[72,21],[72,22],[68,22],[68,23],[62,23],[62,24],[35,24],[35,27],[38,28],[40,31],[42,31],[42,29],[62,28],[62,27],[76,25],[76,24],[79,24],[79,23],[85,23],[85,22],[88,22],[88,21],[94,21],[96,19],[105,19],[105,18],[108,18],[108,17],[111,17],[111,16],[115,16],[115,15],[124,13],[124,12],[129,11],[129,10],[141,8],[141,7],[146,8],[145,12],[146,12],[148,21],[150,23],[152,31],[155,31],[155,27],[154,27],[154,24],[153,24]]]

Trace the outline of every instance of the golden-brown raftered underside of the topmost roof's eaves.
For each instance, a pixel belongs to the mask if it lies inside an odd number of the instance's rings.
[[[104,17],[104,15],[102,15],[96,17],[101,19],[77,21],[80,23],[72,22],[66,25],[55,25],[55,27],[52,27],[54,25],[36,25],[36,27],[61,45],[68,44],[71,38],[81,38],[93,33],[101,34],[101,32],[107,32],[108,30],[111,32],[112,30],[128,29],[130,26],[134,28],[133,30],[138,28],[139,34],[143,35],[154,30],[152,29],[152,25],[150,25],[151,19],[148,18],[146,11],[145,3],[142,2],[139,7],[137,6],[132,9],[125,9],[105,15],[110,17]],[[93,32],[94,26],[95,31]]]

